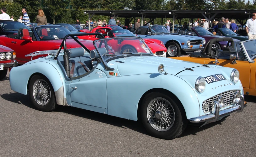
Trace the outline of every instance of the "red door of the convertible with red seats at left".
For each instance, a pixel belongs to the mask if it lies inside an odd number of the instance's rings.
[[[13,36],[13,35],[10,35]],[[16,58],[19,64],[25,64],[31,60],[31,57],[25,57],[25,55],[30,54],[35,51],[39,51],[40,41],[25,41],[23,39],[9,39],[9,48],[13,49],[16,52]]]

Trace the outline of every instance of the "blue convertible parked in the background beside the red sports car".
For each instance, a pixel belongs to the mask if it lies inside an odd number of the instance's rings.
[[[201,52],[205,39],[197,36],[173,35],[162,25],[142,26],[135,33],[141,38],[161,40],[167,48],[166,57],[180,56],[181,52]]]

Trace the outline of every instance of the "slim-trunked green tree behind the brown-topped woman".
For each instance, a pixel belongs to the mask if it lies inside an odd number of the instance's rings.
[[[48,7],[47,10],[50,13],[53,24],[55,24],[55,19],[64,13],[69,3],[68,0],[45,0],[45,6]]]

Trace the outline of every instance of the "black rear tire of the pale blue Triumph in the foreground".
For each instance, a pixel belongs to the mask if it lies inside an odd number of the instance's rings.
[[[36,82],[38,82],[38,81],[41,81],[41,83],[44,83],[45,87],[46,87],[46,88],[42,88],[42,90],[41,90],[42,94],[45,94],[47,92],[49,95],[49,92],[50,92],[50,96],[48,97],[49,100],[47,100],[46,103],[44,103],[44,104],[40,104],[40,100],[36,100],[36,98],[35,98],[36,96],[38,96],[38,92],[36,92],[38,90],[35,90],[35,92],[33,91],[33,88],[34,88],[34,86],[36,87]],[[30,83],[29,83],[29,95],[30,95],[30,100],[33,103],[33,105],[35,106],[35,108],[40,111],[50,112],[50,111],[53,111],[57,107],[52,85],[51,85],[50,81],[43,75],[32,76],[32,78],[30,79]],[[35,95],[35,97],[34,97],[34,95]]]

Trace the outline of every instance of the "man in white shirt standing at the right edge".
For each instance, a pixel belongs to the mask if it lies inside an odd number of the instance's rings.
[[[248,19],[245,24],[245,31],[248,39],[256,39],[256,13],[252,13],[252,18]]]

